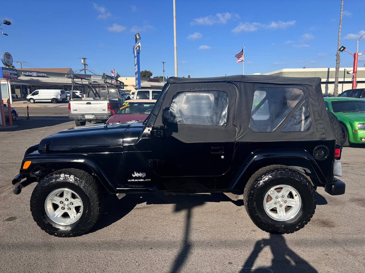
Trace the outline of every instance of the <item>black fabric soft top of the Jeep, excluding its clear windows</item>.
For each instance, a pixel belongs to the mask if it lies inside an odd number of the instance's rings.
[[[235,102],[228,103],[226,130],[218,130],[214,134],[206,134],[205,138],[201,140],[202,142],[213,140],[219,142],[334,140],[333,131],[324,105],[320,78],[294,78],[272,75],[233,75],[215,78],[171,77],[168,78],[167,81],[170,83],[168,87],[169,91],[164,88],[162,92],[167,91],[169,95],[166,96],[167,102],[163,107],[168,107],[168,103],[171,102],[172,96],[181,91],[198,92],[204,90],[221,90],[228,94],[228,101]],[[254,132],[249,126],[254,92],[258,88],[264,87],[300,88],[303,90],[304,96],[274,131]],[[162,96],[160,100],[161,99]],[[295,132],[281,131],[285,123],[303,103],[308,104],[311,118],[310,129],[307,131]],[[160,121],[157,120],[157,124],[159,123]],[[205,128],[206,126],[201,127]],[[187,142],[189,142],[189,134],[185,136],[185,141]]]

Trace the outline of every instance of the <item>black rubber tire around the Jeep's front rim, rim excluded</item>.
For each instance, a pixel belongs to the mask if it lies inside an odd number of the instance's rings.
[[[45,211],[47,196],[60,188],[75,191],[84,206],[81,217],[70,225],[53,222]],[[79,169],[62,169],[47,175],[34,188],[30,198],[30,210],[34,221],[45,232],[57,237],[74,237],[88,232],[99,220],[103,206],[100,186],[89,173]]]

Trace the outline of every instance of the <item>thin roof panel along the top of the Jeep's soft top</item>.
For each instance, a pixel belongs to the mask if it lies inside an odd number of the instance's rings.
[[[281,77],[272,75],[232,75],[212,78],[178,78],[170,77],[169,83],[196,83],[196,82],[246,82],[246,83],[274,83],[274,84],[306,84],[315,86],[320,83],[318,77],[300,78],[300,77]],[[322,92],[321,92],[322,94]]]

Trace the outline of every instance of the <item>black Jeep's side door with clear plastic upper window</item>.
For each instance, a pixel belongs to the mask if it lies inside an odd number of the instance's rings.
[[[230,169],[236,96],[236,88],[229,83],[169,86],[153,128],[163,128],[163,136],[153,134],[152,139],[153,170],[169,181],[166,187],[181,188],[191,182],[212,188],[215,177]],[[170,108],[171,123],[164,126],[165,107]],[[185,184],[177,177],[184,177]]]

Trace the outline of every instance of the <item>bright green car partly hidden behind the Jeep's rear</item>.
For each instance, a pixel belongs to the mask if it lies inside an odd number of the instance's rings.
[[[365,100],[356,98],[324,98],[328,111],[337,116],[342,133],[342,146],[365,143]]]

